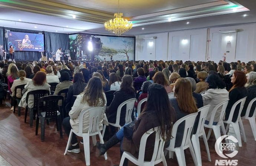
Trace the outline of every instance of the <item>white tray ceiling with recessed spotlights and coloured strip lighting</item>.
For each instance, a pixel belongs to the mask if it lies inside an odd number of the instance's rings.
[[[118,0],[0,1],[0,26],[60,33],[110,34],[104,23],[113,19],[117,10]],[[119,10],[134,24],[124,35],[256,22],[255,0],[120,0]],[[243,17],[243,14],[248,16]],[[170,17],[172,21],[168,22]]]

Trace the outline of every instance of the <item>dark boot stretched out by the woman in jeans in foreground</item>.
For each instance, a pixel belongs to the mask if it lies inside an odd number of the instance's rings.
[[[120,142],[121,139],[118,139],[116,134],[112,136],[106,143],[101,144],[100,142],[96,143],[97,148],[99,149],[99,155],[102,156],[106,153],[106,151],[112,146],[116,145]]]

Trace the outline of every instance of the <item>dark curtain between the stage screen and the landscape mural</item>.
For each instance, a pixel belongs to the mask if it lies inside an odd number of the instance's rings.
[[[69,38],[68,34],[45,32],[45,52],[47,53],[47,58],[52,58],[59,48],[62,48],[61,52],[65,52],[68,49]],[[50,52],[53,52],[51,55]]]

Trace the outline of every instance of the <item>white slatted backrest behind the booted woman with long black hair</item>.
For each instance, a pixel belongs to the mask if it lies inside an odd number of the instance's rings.
[[[148,136],[150,136],[154,132],[155,132],[155,146],[154,146],[152,160],[154,160],[155,163],[158,163],[157,160],[161,160],[162,155],[164,155],[163,152],[164,152],[165,142],[161,135],[161,128],[160,127],[152,128],[147,132],[145,132],[141,137],[140,150],[139,150],[139,156],[138,156],[138,161],[141,163],[144,163],[145,147],[146,147]]]

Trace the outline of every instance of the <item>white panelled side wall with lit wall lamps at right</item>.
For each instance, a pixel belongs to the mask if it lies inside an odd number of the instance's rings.
[[[220,30],[243,31],[230,34],[220,34]],[[141,35],[136,37],[136,60],[191,60],[218,62],[241,60],[248,62],[256,60],[256,24],[237,25],[232,27],[177,31],[162,34]],[[207,45],[209,35],[209,46]],[[230,36],[230,43],[227,42]],[[145,40],[144,37],[157,37]],[[151,45],[150,45],[151,44]],[[229,51],[229,52],[227,52]]]

